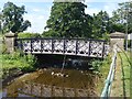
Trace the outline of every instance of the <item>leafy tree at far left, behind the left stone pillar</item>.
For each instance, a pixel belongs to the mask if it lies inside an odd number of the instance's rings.
[[[2,10],[3,16],[3,31],[6,32],[23,32],[29,26],[31,26],[31,22],[28,20],[23,20],[23,14],[26,13],[25,7],[18,7],[12,2],[7,2]]]

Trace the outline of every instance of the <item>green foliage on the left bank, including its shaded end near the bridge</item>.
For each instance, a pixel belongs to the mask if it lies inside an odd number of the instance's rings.
[[[19,68],[22,72],[35,69],[36,58],[31,54],[24,55],[14,52],[13,54],[3,54],[0,57],[2,57],[3,69]]]

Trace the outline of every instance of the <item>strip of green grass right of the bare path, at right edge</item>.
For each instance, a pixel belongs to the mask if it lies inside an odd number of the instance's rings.
[[[131,54],[130,52],[124,52],[124,51],[118,53],[118,58],[120,59],[118,64],[120,64],[121,70],[122,70],[120,77],[121,77],[121,80],[123,81],[123,90],[125,91],[127,97],[131,95],[130,91],[132,88],[131,87],[132,64],[131,64],[130,54]]]

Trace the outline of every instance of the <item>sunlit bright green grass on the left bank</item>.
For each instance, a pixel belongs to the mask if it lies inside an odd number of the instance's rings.
[[[14,67],[22,69],[26,67],[30,68],[30,66],[35,63],[33,63],[33,57],[31,55],[28,57],[20,56],[19,53],[0,55],[0,59],[2,59],[2,69],[10,69]]]

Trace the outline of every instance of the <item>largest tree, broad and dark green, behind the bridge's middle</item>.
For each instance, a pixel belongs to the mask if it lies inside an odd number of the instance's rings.
[[[90,37],[91,16],[82,2],[54,2],[44,35],[59,37]]]

